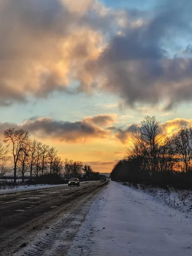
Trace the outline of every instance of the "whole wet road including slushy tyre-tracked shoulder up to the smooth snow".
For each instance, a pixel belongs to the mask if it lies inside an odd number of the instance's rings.
[[[0,256],[47,255],[46,250],[58,237],[65,241],[62,248],[55,248],[55,255],[66,255],[80,227],[72,228],[72,223],[76,218],[81,218],[81,222],[84,220],[94,197],[107,183],[93,181],[78,187],[62,186],[1,195]],[[37,247],[35,254],[31,250],[20,254],[23,244],[26,246],[31,242]]]

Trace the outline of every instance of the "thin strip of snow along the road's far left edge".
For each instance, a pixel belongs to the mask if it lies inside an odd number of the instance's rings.
[[[83,183],[87,182],[92,182],[92,181],[83,181]],[[29,186],[19,186],[19,188],[16,189],[2,189],[0,190],[0,195],[7,195],[7,194],[14,194],[18,192],[27,192],[27,191],[32,191],[32,190],[39,190],[39,189],[50,189],[50,188],[56,188],[56,187],[61,187],[61,186],[68,186],[68,184],[60,184],[60,185],[44,185],[44,184],[38,184],[37,186],[35,185],[29,185]]]

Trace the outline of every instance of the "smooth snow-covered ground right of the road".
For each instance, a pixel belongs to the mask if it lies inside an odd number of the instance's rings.
[[[111,181],[93,203],[68,256],[191,256],[192,216]]]

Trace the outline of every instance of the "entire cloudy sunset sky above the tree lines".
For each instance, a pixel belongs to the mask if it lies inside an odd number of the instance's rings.
[[[146,115],[192,124],[192,1],[0,0],[9,127],[110,172]]]

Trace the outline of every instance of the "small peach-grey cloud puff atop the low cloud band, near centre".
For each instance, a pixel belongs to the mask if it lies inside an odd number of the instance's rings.
[[[99,114],[97,116],[88,116],[83,119],[84,122],[93,124],[93,125],[100,125],[100,126],[106,126],[111,123],[114,123],[116,119],[116,114],[113,115],[104,115]]]

